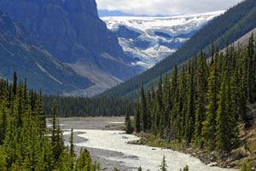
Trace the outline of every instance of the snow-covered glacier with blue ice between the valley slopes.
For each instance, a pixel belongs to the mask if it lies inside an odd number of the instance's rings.
[[[172,17],[102,17],[108,29],[116,32],[126,54],[143,66],[154,66],[180,48],[196,31],[224,11]]]

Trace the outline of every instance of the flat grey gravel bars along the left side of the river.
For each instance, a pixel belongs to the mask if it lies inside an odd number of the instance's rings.
[[[69,117],[58,118],[63,130],[63,138],[66,145],[69,143],[70,130],[80,129],[97,129],[97,130],[123,130],[125,128],[124,117]],[[48,120],[49,122],[49,120]],[[74,144],[79,144],[88,141],[87,139],[79,136],[79,134],[86,134],[83,131],[74,131],[73,140]],[[75,152],[79,156],[81,146],[75,146]],[[126,167],[122,162],[108,160],[107,157],[122,157],[123,153],[118,151],[108,151],[96,148],[86,147],[90,151],[90,156],[93,162],[98,162],[104,171],[113,171],[113,168],[120,168],[121,171],[129,171],[131,168]]]

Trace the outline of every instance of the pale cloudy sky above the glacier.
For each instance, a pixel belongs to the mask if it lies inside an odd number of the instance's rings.
[[[98,9],[128,14],[199,14],[230,9],[241,0],[96,0]]]

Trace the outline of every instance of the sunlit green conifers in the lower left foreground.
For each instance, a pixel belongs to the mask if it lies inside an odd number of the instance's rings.
[[[56,120],[56,104],[51,111],[51,128],[46,128],[42,95],[27,90],[26,81],[0,80],[0,170],[99,170],[90,154],[81,150],[76,159],[73,136],[64,145]],[[73,135],[73,131],[71,133]]]

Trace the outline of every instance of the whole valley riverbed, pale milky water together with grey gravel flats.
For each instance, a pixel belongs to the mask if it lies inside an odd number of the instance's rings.
[[[61,129],[64,131],[65,143],[68,145],[70,129],[74,130],[76,152],[88,149],[94,162],[101,164],[102,170],[121,171],[144,169],[158,170],[163,156],[166,156],[168,170],[178,170],[189,165],[192,171],[230,170],[207,167],[199,159],[189,157],[178,151],[167,148],[149,147],[148,145],[129,145],[128,141],[139,140],[137,136],[124,134],[124,117],[87,117],[60,118]],[[153,157],[154,156],[154,157]],[[232,169],[231,169],[232,170]]]

